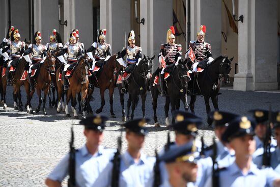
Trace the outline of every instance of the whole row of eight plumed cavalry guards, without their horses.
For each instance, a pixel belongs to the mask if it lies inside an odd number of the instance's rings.
[[[200,61],[206,61],[211,63],[213,61],[211,54],[211,45],[204,41],[206,34],[205,25],[201,25],[200,31],[197,33],[197,40],[190,41],[189,50],[186,53],[186,58],[189,56],[190,49],[193,51],[194,63],[193,70],[197,71],[196,66]],[[69,41],[63,45],[63,41],[59,32],[53,30],[52,34],[49,36],[49,42],[46,45],[42,44],[41,32],[37,31],[33,37],[32,44],[26,45],[25,42],[20,41],[21,37],[19,30],[15,29],[14,26],[11,26],[7,36],[3,39],[3,42],[0,43],[0,65],[4,65],[7,75],[7,84],[11,84],[10,80],[10,67],[13,61],[25,59],[26,64],[25,70],[29,72],[31,89],[34,89],[34,80],[32,79],[31,68],[35,63],[43,63],[46,59],[47,52],[56,56],[60,63],[64,67],[63,69],[63,79],[65,85],[65,90],[68,89],[68,81],[65,81],[65,76],[69,64],[75,63],[78,61],[79,57],[85,53],[93,60],[91,70],[93,75],[96,75],[99,70],[100,64],[95,62],[104,59],[104,62],[108,60],[111,56],[111,46],[106,43],[106,29],[102,29],[98,32],[97,41],[85,49],[82,42],[79,40],[79,31],[73,30],[70,34]],[[166,43],[161,44],[160,52],[158,56],[159,68],[157,69],[157,74],[159,76],[161,95],[164,96],[163,81],[164,81],[164,72],[163,69],[165,65],[175,65],[182,58],[182,46],[175,43],[175,29],[171,26],[167,30],[166,34]],[[127,41],[125,41],[125,47],[122,51],[118,53],[117,61],[124,66],[124,71],[122,71],[123,77],[130,73],[131,68],[126,68],[127,66],[135,66],[137,62],[142,59],[142,48],[135,45],[135,33],[130,31],[128,34]],[[101,61],[100,61],[101,62]],[[103,61],[102,61],[103,62]],[[14,63],[16,64],[16,63]],[[195,78],[195,77],[194,77]],[[126,93],[125,82],[123,83],[122,93]]]

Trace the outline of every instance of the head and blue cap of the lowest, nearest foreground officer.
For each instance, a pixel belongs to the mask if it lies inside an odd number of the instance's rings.
[[[189,186],[197,177],[197,161],[199,152],[195,150],[195,144],[189,142],[182,146],[175,146],[159,156],[159,161],[164,163],[168,178],[162,186]]]

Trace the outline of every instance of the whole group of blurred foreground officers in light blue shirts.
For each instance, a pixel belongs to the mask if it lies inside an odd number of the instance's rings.
[[[175,142],[167,140],[155,157],[142,152],[148,119],[123,125],[127,150],[121,154],[120,138],[118,149],[101,145],[107,118],[87,117],[80,121],[86,144],[74,149],[72,129],[70,152],[45,183],[61,186],[69,175],[68,186],[280,186],[280,112],[251,112],[254,117],[212,112],[216,141],[207,147],[196,138],[203,120],[177,111]]]

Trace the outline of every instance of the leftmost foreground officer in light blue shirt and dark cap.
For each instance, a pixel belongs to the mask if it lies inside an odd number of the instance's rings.
[[[70,156],[67,154],[47,177],[47,186],[61,186],[63,179],[69,174],[69,171],[73,170],[75,177],[71,181],[74,180],[75,186],[92,186],[116,152],[116,149],[104,148],[100,145],[107,119],[103,115],[94,115],[80,121],[81,125],[85,125],[83,133],[87,142],[76,150],[74,168],[69,167]]]

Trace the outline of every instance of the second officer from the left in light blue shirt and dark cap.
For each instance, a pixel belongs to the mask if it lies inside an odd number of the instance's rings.
[[[141,152],[145,136],[148,133],[146,124],[149,121],[147,118],[138,118],[124,124],[127,150],[124,154],[119,155],[119,164],[114,159],[114,162],[107,165],[93,186],[152,186],[155,158]],[[117,183],[116,180],[118,180]]]

